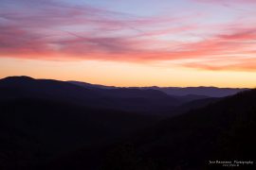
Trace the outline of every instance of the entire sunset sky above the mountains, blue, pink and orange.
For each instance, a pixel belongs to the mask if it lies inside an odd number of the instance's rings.
[[[0,77],[256,87],[256,0],[1,0]]]

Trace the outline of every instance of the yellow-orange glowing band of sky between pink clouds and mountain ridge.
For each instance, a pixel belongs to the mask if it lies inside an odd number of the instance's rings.
[[[145,65],[112,61],[42,61],[1,59],[0,77],[32,76],[78,80],[118,87],[196,87],[215,86],[255,88],[255,72],[201,71],[176,65]]]

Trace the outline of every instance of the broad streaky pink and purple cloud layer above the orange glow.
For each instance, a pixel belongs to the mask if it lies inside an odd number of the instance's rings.
[[[252,70],[256,63],[255,23],[231,21],[210,26],[202,23],[206,18],[182,11],[172,16],[137,17],[51,0],[3,0],[1,4],[0,57],[178,60],[181,66],[208,70]],[[217,61],[204,63],[209,59]]]

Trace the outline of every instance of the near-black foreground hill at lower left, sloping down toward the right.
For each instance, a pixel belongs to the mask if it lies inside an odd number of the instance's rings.
[[[155,120],[132,112],[35,98],[1,102],[0,169],[38,169],[52,157],[81,147],[99,150]]]

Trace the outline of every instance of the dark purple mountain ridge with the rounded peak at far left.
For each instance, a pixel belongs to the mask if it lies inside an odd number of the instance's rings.
[[[171,110],[183,101],[156,90],[86,89],[64,81],[11,76],[0,80],[0,100],[20,97],[70,102],[78,105],[141,113]]]

